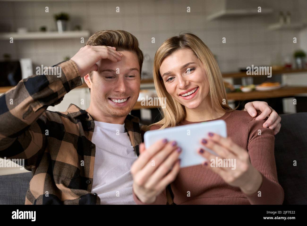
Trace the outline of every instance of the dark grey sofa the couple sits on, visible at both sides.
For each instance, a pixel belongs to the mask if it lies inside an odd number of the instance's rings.
[[[275,136],[278,181],[283,204],[307,204],[307,113],[284,114]],[[293,166],[293,161],[297,166]],[[32,172],[0,176],[0,204],[24,204]]]

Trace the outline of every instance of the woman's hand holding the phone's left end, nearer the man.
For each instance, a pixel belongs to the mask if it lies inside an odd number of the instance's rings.
[[[175,180],[179,169],[181,148],[176,141],[159,140],[148,149],[140,144],[140,156],[131,167],[133,191],[143,203],[156,197]]]

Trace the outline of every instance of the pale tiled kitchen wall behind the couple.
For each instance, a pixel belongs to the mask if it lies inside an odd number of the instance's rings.
[[[166,38],[182,31],[198,35],[217,56],[222,72],[236,71],[247,65],[283,63],[293,51],[307,48],[299,30],[268,31],[268,24],[278,21],[280,10],[291,11],[293,21],[307,22],[307,1],[265,1],[274,13],[251,17],[231,17],[208,22],[206,17],[214,8],[222,6],[223,0],[139,0],[139,1],[34,1],[0,2],[0,19],[9,23],[11,31],[27,26],[38,31],[40,26],[56,30],[53,14],[61,11],[71,16],[71,27],[80,24],[91,34],[97,30],[124,29],[134,34],[144,53],[153,62],[154,53]],[[257,2],[257,1],[256,1]],[[259,0],[259,4],[262,4]],[[49,13],[45,13],[45,7]],[[120,13],[115,7],[120,7]],[[187,6],[191,13],[186,12]],[[155,43],[151,38],[155,37]],[[226,37],[226,43],[222,38]],[[84,44],[78,39],[0,41],[0,57],[10,53],[14,58],[31,57],[33,65],[54,65],[64,57],[72,57]],[[152,65],[152,64],[151,64]],[[151,71],[151,68],[144,68]]]

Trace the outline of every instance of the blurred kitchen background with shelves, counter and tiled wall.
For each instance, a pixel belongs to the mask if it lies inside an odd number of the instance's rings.
[[[261,12],[258,12],[259,6]],[[35,73],[37,66],[52,66],[69,59],[98,30],[127,30],[138,38],[145,56],[140,95],[154,95],[155,51],[166,38],[188,31],[199,36],[216,56],[233,107],[238,104],[242,107],[246,101],[264,100],[278,113],[307,111],[306,10],[306,0],[4,0],[0,1],[1,77],[9,73],[3,70],[8,62],[23,59],[21,73],[26,77],[29,72]],[[67,13],[69,20],[67,31],[59,33],[54,14],[61,12]],[[11,37],[13,43],[10,43]],[[84,43],[80,43],[81,37]],[[155,43],[152,43],[153,37]],[[226,43],[222,42],[223,37]],[[298,60],[302,60],[298,65],[293,55],[297,50],[303,51],[298,53],[302,55],[297,55]],[[251,65],[272,66],[272,78],[264,75],[247,78],[244,69]],[[266,81],[271,83],[262,84]],[[268,90],[254,90],[251,84],[262,84],[264,88],[260,88]],[[11,85],[14,84],[2,84],[0,93]],[[243,88],[242,85],[251,86]],[[294,98],[297,105],[293,104]],[[49,110],[65,111],[70,103],[86,109],[89,100],[84,84]],[[138,103],[134,109],[133,114],[144,123],[158,119],[156,106]]]

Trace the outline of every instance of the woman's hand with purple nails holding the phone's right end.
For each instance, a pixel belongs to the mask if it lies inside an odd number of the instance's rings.
[[[245,194],[253,194],[258,191],[262,184],[261,173],[251,165],[249,154],[246,150],[236,145],[230,137],[221,137],[216,133],[209,133],[209,139],[203,139],[201,144],[208,149],[214,151],[217,155],[209,153],[204,149],[198,152],[207,160],[216,157],[220,159],[233,159],[235,161],[235,169],[232,167],[211,167],[210,162],[204,161],[204,165],[212,171],[218,173],[227,184],[241,188]]]

